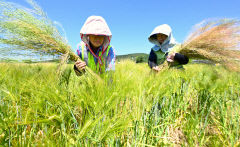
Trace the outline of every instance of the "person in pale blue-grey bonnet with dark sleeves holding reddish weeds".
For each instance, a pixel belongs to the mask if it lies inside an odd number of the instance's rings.
[[[159,65],[167,60],[170,67],[183,68],[182,65],[187,64],[189,59],[187,56],[176,53],[177,48],[175,39],[172,35],[172,29],[169,25],[163,24],[157,26],[148,38],[149,42],[154,46],[148,59],[148,65],[151,69],[159,72]]]

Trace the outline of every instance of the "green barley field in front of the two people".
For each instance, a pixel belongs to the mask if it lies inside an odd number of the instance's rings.
[[[239,73],[128,60],[102,80],[57,70],[0,63],[0,146],[240,146]]]

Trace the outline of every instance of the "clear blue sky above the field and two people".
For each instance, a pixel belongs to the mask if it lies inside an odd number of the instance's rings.
[[[29,6],[24,0],[8,0]],[[79,31],[91,15],[107,21],[117,55],[149,53],[148,35],[160,24],[169,24],[183,42],[192,26],[208,18],[240,17],[240,0],[35,0],[53,21],[62,24],[73,49]]]

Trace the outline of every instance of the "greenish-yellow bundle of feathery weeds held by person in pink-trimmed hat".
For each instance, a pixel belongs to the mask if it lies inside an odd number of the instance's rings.
[[[9,54],[19,50],[23,54],[30,51],[34,54],[53,55],[62,57],[64,62],[68,59],[80,60],[68,45],[66,37],[58,30],[61,25],[52,22],[33,0],[27,2],[32,9],[16,3],[0,2],[2,51]],[[91,75],[94,74],[89,68],[87,71]]]

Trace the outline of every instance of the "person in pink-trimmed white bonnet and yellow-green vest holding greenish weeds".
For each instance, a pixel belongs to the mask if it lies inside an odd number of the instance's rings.
[[[115,70],[115,51],[110,45],[112,33],[101,16],[90,16],[80,31],[81,43],[77,54],[82,61],[74,64],[77,75],[85,72],[86,66],[96,73]]]

